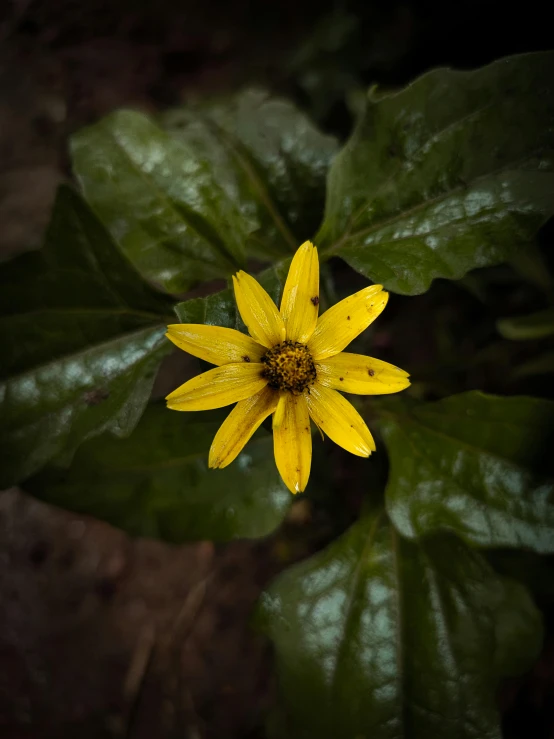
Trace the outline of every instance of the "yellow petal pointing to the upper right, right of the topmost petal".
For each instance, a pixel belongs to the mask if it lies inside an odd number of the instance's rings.
[[[370,285],[325,311],[308,341],[313,358],[341,352],[377,318],[388,299],[382,285]]]

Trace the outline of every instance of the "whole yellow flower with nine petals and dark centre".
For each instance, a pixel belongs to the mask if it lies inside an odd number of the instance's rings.
[[[202,324],[173,324],[166,334],[180,349],[217,365],[170,393],[169,408],[202,411],[236,403],[215,435],[210,467],[230,464],[272,413],[275,461],[292,493],[302,492],[310,476],[310,417],[344,449],[369,457],[373,437],[337,390],[380,395],[410,384],[408,373],[388,362],[343,352],[381,313],[388,293],[371,285],[318,318],[319,260],[309,241],[292,260],[280,311],[246,272],[233,284],[250,336]]]

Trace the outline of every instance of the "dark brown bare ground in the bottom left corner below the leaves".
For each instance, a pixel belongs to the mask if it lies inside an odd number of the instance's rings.
[[[235,737],[260,725],[248,627],[269,543],[169,547],[0,497],[0,735]],[[254,734],[252,734],[254,736]]]

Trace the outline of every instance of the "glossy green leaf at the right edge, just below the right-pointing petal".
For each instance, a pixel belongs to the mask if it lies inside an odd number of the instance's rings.
[[[387,510],[403,536],[554,551],[554,403],[469,392],[382,408]]]

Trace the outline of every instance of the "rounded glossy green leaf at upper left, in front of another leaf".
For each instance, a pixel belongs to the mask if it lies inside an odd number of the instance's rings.
[[[73,136],[88,202],[145,276],[180,292],[244,262],[248,225],[209,164],[147,116],[117,111]]]

